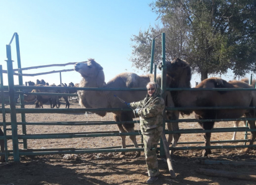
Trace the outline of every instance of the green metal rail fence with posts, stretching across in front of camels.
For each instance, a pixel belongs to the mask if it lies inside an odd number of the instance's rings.
[[[13,39],[13,37],[12,37]],[[165,51],[165,34],[162,34],[163,39],[163,51]],[[16,39],[17,40],[17,39]],[[17,44],[17,43],[16,43]],[[17,47],[17,45],[16,45]],[[17,49],[17,48],[16,48]],[[83,132],[83,133],[51,133],[51,134],[27,134],[26,125],[110,125],[110,124],[122,124],[123,122],[114,122],[114,121],[94,121],[94,122],[26,122],[25,114],[26,113],[85,113],[87,112],[96,112],[96,111],[131,111],[129,108],[124,109],[25,109],[24,108],[24,99],[23,94],[32,94],[32,93],[23,93],[24,89],[75,89],[75,90],[84,90],[84,91],[127,91],[127,89],[121,88],[65,88],[65,87],[40,87],[40,86],[22,86],[22,75],[21,79],[19,79],[19,86],[14,86],[14,78],[13,78],[13,69],[12,69],[12,58],[11,58],[11,45],[6,45],[7,50],[7,75],[8,75],[8,91],[9,94],[9,104],[10,108],[6,108],[4,106],[4,101],[2,100],[2,109],[0,112],[2,113],[2,122],[0,125],[4,128],[4,136],[0,136],[0,139],[4,140],[6,151],[5,153],[1,153],[1,155],[6,155],[6,160],[8,156],[14,156],[14,161],[19,161],[19,156],[22,155],[53,155],[53,154],[67,154],[67,153],[105,153],[105,152],[120,152],[120,151],[143,151],[143,148],[121,148],[117,147],[104,147],[104,148],[49,148],[49,149],[28,149],[27,140],[28,139],[50,139],[50,138],[82,138],[82,137],[116,137],[121,135],[140,135],[140,131],[136,130],[133,133],[119,133],[119,132]],[[165,91],[251,91],[255,89],[169,89],[166,88],[166,66],[165,66],[165,52],[163,55],[163,70],[162,70],[162,89]],[[20,58],[18,60],[21,62]],[[151,64],[153,65],[153,63]],[[21,67],[21,65],[19,65]],[[22,73],[20,73],[22,74]],[[2,83],[2,66],[0,66],[0,78],[1,78],[1,97],[4,97],[4,86]],[[129,89],[128,91],[146,91],[145,88],[141,89]],[[15,94],[21,95],[21,108],[16,108]],[[47,95],[58,95],[58,96],[73,96],[73,94],[57,94],[57,93],[34,93],[37,95],[47,94]],[[166,110],[181,110],[181,109],[255,109],[255,107],[187,107],[187,108],[177,108],[177,107],[168,107]],[[6,114],[11,114],[11,122],[6,122]],[[17,122],[17,114],[21,114],[22,121]],[[231,121],[231,120],[245,120],[244,118],[240,119],[219,119],[215,121]],[[246,119],[246,120],[255,120],[255,119]],[[180,119],[180,120],[165,120],[163,119],[163,125],[165,122],[197,122],[198,120],[194,119]],[[209,120],[200,120],[200,122],[209,121]],[[127,123],[127,122],[126,122]],[[135,121],[130,121],[128,123],[135,123]],[[11,125],[12,134],[6,135],[6,126]],[[17,134],[17,125],[22,125],[22,135]],[[237,127],[237,128],[220,128],[213,130],[203,130],[203,129],[180,129],[176,131],[167,131],[165,133],[206,133],[206,132],[241,132],[241,131],[256,131],[250,130],[248,127]],[[12,150],[7,150],[7,140],[12,140]],[[19,140],[22,140],[23,149],[19,148]],[[231,143],[231,142],[248,142],[249,140],[226,140],[226,141],[212,141],[211,143]],[[199,144],[203,142],[183,142],[178,144]],[[140,144],[141,145],[141,144]],[[130,146],[127,146],[130,147]],[[211,146],[211,147],[170,147],[170,150],[201,150],[207,148],[247,148],[247,147],[256,147],[256,145],[239,145],[239,146]],[[164,155],[163,144],[160,142],[160,155]]]

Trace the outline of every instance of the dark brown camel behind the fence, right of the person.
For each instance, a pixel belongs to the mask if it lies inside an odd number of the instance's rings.
[[[170,76],[170,88],[190,88],[191,68],[186,61],[175,58],[167,61],[167,76]],[[161,66],[158,66],[161,67]],[[221,78],[204,79],[195,88],[252,88],[242,81],[225,81]],[[256,105],[255,93],[252,91],[171,91],[171,96],[175,107],[252,107]],[[201,119],[237,119],[245,117],[255,117],[253,109],[220,109],[220,110],[188,110],[180,111],[181,114],[191,114],[194,111],[196,119],[203,130],[211,130],[214,121],[200,122]],[[255,129],[255,120],[249,121],[250,129]],[[250,145],[254,143],[256,132],[252,132]],[[205,146],[211,146],[211,133],[205,133]],[[244,151],[249,152],[250,148]],[[203,150],[202,155],[211,154],[210,149]]]

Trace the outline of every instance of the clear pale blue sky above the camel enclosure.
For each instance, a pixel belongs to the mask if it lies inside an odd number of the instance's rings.
[[[0,65],[6,70],[6,45],[14,32],[19,35],[21,67],[64,64],[94,58],[103,66],[105,81],[119,73],[143,74],[132,67],[130,38],[139,31],[159,23],[149,4],[153,0],[0,0]],[[17,68],[16,43],[11,44],[13,68]],[[25,70],[22,73],[42,73],[73,69],[73,65]],[[160,73],[160,71],[158,71]],[[227,76],[232,79],[232,76]],[[60,84],[60,73],[23,76],[25,81],[44,79]],[[79,83],[76,71],[63,72],[62,83]],[[191,80],[200,81],[199,74]],[[14,84],[19,84],[14,76]],[[7,75],[4,74],[4,85]]]

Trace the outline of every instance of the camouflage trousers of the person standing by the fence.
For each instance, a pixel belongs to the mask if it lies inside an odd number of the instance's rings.
[[[147,133],[143,134],[144,153],[147,163],[147,171],[149,176],[155,177],[159,174],[158,161],[157,161],[157,144],[160,140],[163,127],[150,129]]]

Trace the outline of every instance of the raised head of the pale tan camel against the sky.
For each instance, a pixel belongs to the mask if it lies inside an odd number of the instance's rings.
[[[80,73],[83,78],[94,78],[99,71],[103,71],[103,67],[90,58],[87,63],[76,63],[75,71]]]

